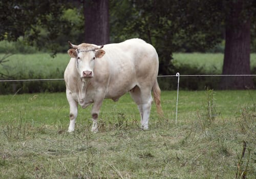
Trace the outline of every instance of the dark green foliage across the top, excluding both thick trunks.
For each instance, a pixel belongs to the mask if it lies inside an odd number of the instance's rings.
[[[254,52],[255,2],[246,1],[242,8],[241,19],[251,17]],[[1,1],[0,40],[22,37],[19,48],[33,46],[31,50],[15,48],[20,53],[31,53],[34,48],[53,54],[66,52],[67,41],[83,42],[84,29],[90,28],[84,27],[82,11],[81,1]],[[174,73],[173,52],[224,51],[223,32],[231,9],[229,1],[220,0],[110,0],[109,12],[111,42],[140,37],[152,43],[159,54],[160,74],[167,75]]]

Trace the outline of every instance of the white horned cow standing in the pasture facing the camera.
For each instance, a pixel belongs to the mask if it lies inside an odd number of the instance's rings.
[[[155,48],[145,41],[135,38],[121,43],[96,46],[70,43],[68,51],[71,59],[65,70],[66,94],[70,104],[69,132],[75,130],[78,104],[82,108],[93,104],[92,131],[97,132],[97,119],[104,98],[115,102],[129,92],[138,105],[141,128],[148,129],[152,95],[158,113],[160,88],[157,82],[158,55]]]

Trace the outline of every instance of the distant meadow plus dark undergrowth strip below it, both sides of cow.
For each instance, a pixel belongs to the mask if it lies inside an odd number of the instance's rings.
[[[0,58],[3,54],[0,54]],[[174,53],[173,63],[177,72],[181,75],[216,75],[221,74],[223,54],[202,53]],[[51,58],[49,54],[15,54],[8,58],[10,61],[0,65],[0,79],[2,73],[10,76],[9,79],[56,79],[63,78],[63,73],[69,62],[68,54],[57,54]],[[256,54],[251,54],[251,73],[256,74]],[[159,72],[161,74],[161,72]],[[172,72],[174,75],[176,72]],[[5,77],[6,79],[7,77]],[[256,78],[252,78],[256,85]],[[182,77],[180,89],[203,90],[219,88],[221,77]],[[161,89],[176,89],[176,77],[159,78]],[[40,93],[40,92],[64,92],[63,81],[27,81],[27,82],[2,82],[0,94],[10,93]]]

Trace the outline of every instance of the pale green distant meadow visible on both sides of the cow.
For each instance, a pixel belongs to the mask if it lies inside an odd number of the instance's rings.
[[[3,54],[0,54],[2,57]],[[179,66],[189,65],[194,69],[203,69],[208,74],[221,74],[223,65],[223,54],[210,53],[174,53],[173,63]],[[57,54],[51,58],[47,53],[38,54],[14,54],[8,58],[10,61],[0,65],[0,71],[17,78],[63,78],[63,72],[69,62],[69,55]],[[256,68],[256,54],[251,54],[251,69]],[[51,74],[50,74],[51,73]],[[183,73],[183,72],[181,72]]]

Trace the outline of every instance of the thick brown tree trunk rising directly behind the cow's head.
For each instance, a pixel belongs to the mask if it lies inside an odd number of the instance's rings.
[[[109,43],[109,0],[84,0],[84,42],[97,45]]]

